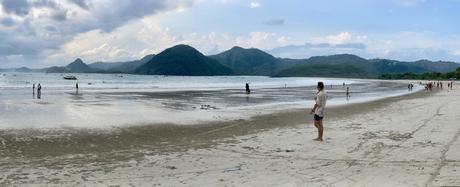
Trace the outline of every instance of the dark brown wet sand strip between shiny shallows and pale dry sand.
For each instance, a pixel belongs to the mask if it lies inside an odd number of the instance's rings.
[[[325,124],[344,117],[353,117],[405,99],[427,97],[423,90],[378,100],[337,105],[327,108]],[[312,125],[308,114],[311,106],[260,114],[249,119],[211,121],[193,125],[173,123],[144,124],[109,129],[4,129],[0,130],[0,143],[4,151],[0,156],[42,157],[65,154],[110,152],[123,149],[153,148],[158,153],[181,152],[188,149],[209,148],[221,140],[255,134],[275,128]],[[69,147],[69,145],[75,145]]]

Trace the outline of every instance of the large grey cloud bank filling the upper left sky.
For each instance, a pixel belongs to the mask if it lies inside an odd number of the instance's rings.
[[[178,7],[189,7],[196,0],[0,0],[3,13],[0,24],[0,67],[10,56],[20,56],[24,64],[42,61],[43,55],[59,50],[76,35],[92,30],[111,32],[127,22]],[[71,3],[86,11],[71,11]],[[32,9],[45,8],[39,16]],[[21,19],[11,19],[11,16]],[[3,27],[3,28],[5,28]],[[31,65],[33,66],[33,65]]]

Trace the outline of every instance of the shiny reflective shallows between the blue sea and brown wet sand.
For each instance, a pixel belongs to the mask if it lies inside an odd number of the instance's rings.
[[[351,87],[349,101],[341,85],[331,88],[329,106],[407,93],[401,83],[370,81],[352,84]],[[82,89],[65,94],[45,92],[41,100],[34,99],[33,94],[16,95],[11,92],[0,97],[0,117],[4,119],[0,126],[2,129],[62,127],[97,130],[146,124],[219,123],[310,107],[314,92],[312,86],[255,89],[250,96],[236,89],[114,93]]]

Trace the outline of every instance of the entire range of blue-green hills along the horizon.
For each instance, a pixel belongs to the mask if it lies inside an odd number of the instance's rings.
[[[76,59],[67,66],[43,69],[27,67],[0,69],[0,72],[46,73],[127,73],[145,75],[216,76],[252,75],[271,77],[342,77],[342,78],[459,78],[459,63],[418,60],[364,59],[352,54],[314,56],[308,59],[276,58],[256,48],[233,47],[216,55],[205,56],[188,45],[176,45],[155,55],[127,62],[94,62]],[[458,71],[457,71],[458,72]],[[431,74],[430,74],[431,73]],[[426,76],[418,76],[426,75]]]

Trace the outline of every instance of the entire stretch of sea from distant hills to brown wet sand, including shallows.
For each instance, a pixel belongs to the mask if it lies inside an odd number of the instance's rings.
[[[403,84],[357,79],[73,75],[78,80],[64,80],[65,74],[1,73],[0,129],[193,125],[247,119],[310,108],[318,81],[326,85],[330,106],[407,93]],[[252,90],[249,95],[244,91],[246,82]],[[32,84],[38,83],[40,98],[32,91]]]

